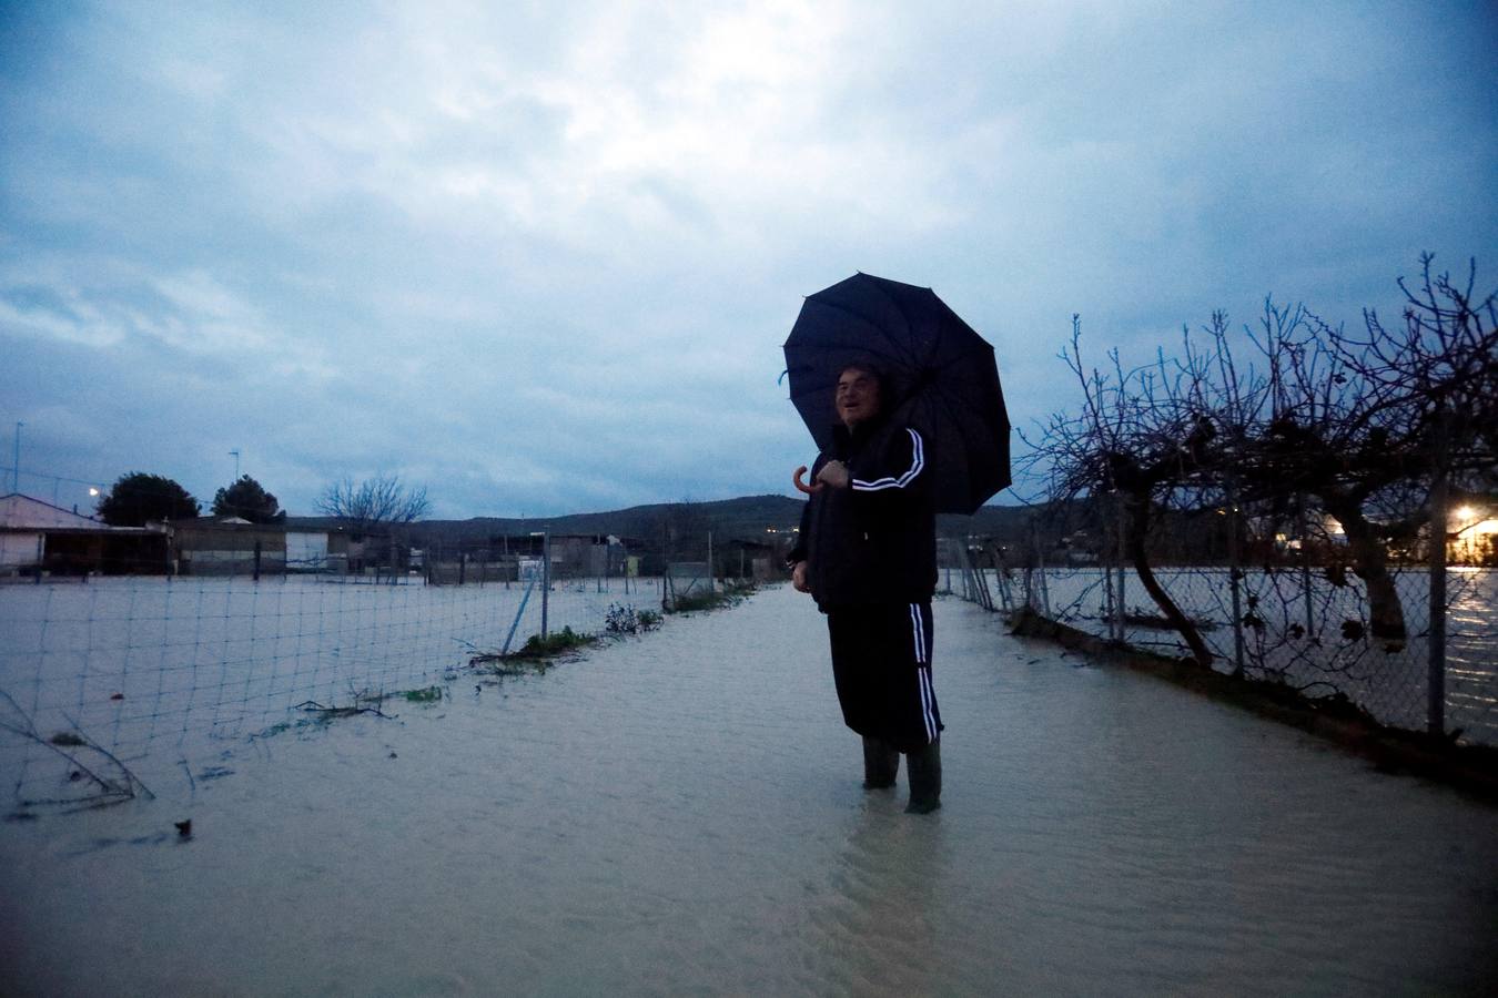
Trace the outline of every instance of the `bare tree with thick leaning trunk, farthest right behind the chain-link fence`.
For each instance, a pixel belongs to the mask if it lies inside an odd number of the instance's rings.
[[[1474,304],[1476,263],[1465,287],[1434,277],[1404,278],[1404,326],[1386,328],[1372,310],[1363,332],[1330,326],[1297,310],[1266,310],[1258,347],[1269,368],[1264,419],[1252,428],[1242,473],[1251,494],[1284,506],[1312,495],[1336,518],[1353,570],[1363,579],[1374,637],[1404,640],[1399,593],[1389,572],[1390,540],[1431,524],[1428,497],[1438,476],[1491,476],[1498,423],[1498,332],[1494,296]]]

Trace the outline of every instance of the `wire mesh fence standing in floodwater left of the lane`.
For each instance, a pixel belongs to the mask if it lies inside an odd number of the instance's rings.
[[[0,585],[0,772],[16,803],[190,783],[246,741],[439,697],[478,655],[619,631],[662,603],[659,576],[506,570],[461,552],[369,573],[246,567]]]

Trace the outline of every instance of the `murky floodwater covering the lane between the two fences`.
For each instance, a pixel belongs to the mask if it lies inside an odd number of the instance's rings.
[[[6,821],[0,991],[1491,994],[1498,809],[957,600],[935,670],[932,815],[776,588]]]

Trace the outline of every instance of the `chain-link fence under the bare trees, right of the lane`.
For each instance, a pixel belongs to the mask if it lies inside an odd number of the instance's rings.
[[[1002,564],[992,545],[950,540],[963,599],[1022,607],[1121,646],[1191,657],[1138,573],[1116,560]],[[1444,627],[1432,625],[1432,572],[1444,573]],[[1369,587],[1342,563],[1168,566],[1155,581],[1192,624],[1212,667],[1272,681],[1306,699],[1342,697],[1380,724],[1498,745],[1498,569],[1390,570],[1405,634],[1378,637]]]

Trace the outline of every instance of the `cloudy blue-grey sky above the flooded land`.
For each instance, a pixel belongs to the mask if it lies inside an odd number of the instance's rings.
[[[996,347],[1144,356],[1266,295],[1498,287],[1473,3],[0,4],[0,465],[87,510],[240,467],[292,513],[783,492],[801,298],[926,284]]]

